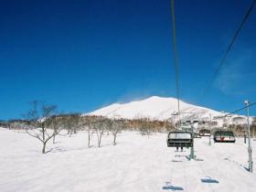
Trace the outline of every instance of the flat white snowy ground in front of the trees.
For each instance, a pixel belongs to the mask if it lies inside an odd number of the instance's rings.
[[[149,139],[122,133],[116,146],[111,136],[104,136],[101,148],[94,140],[90,149],[86,133],[57,140],[50,144],[51,153],[41,155],[37,139],[0,128],[0,191],[256,191],[256,167],[253,174],[246,171],[247,145],[242,139],[211,146],[208,138],[196,139],[201,161],[189,161],[188,149],[167,148],[160,133]],[[252,153],[256,162],[256,141]],[[204,178],[217,183],[203,183]]]

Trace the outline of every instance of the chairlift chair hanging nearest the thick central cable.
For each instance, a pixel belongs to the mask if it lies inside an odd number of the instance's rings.
[[[168,147],[191,147],[193,146],[192,133],[170,132],[167,137]]]

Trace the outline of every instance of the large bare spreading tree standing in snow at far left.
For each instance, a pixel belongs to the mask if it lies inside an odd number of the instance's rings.
[[[47,154],[49,151],[46,151],[46,146],[48,141],[59,131],[50,130],[52,125],[52,119],[50,118],[56,110],[56,105],[46,105],[43,101],[32,101],[32,109],[27,112],[27,118],[29,123],[27,123],[26,132],[37,138],[42,144],[42,154]]]

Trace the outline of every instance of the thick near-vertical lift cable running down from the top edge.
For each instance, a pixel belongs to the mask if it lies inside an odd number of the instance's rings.
[[[173,38],[173,51],[175,58],[175,67],[176,67],[176,99],[177,99],[177,111],[179,118],[179,83],[178,83],[178,57],[177,57],[177,48],[176,48],[176,16],[175,16],[175,2],[171,0],[171,15],[172,15],[172,38]],[[180,118],[179,118],[180,119]]]

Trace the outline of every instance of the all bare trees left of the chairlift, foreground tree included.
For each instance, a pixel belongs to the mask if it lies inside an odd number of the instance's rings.
[[[174,130],[173,123],[150,121],[148,118],[139,120],[109,119],[102,116],[81,115],[80,113],[64,114],[57,111],[56,105],[47,105],[43,101],[32,101],[31,109],[23,120],[12,120],[0,123],[8,129],[22,129],[36,138],[42,144],[42,154],[47,154],[47,144],[50,140],[56,143],[57,135],[71,136],[78,131],[87,132],[88,147],[91,147],[92,135],[97,136],[98,147],[101,147],[102,135],[112,134],[112,144],[115,145],[118,133],[125,130],[139,131],[142,135],[152,132]]]

